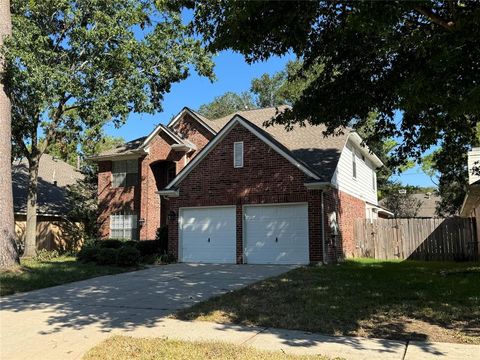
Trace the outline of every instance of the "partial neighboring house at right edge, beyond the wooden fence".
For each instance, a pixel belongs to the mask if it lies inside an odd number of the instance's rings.
[[[468,190],[460,216],[475,218],[477,238],[480,239],[480,147],[468,152]]]

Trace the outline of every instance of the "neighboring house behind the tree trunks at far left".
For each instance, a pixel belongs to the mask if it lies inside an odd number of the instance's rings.
[[[37,192],[37,248],[48,250],[68,249],[78,240],[78,226],[68,218],[66,189],[82,179],[75,167],[44,154],[38,168]],[[13,205],[15,230],[19,239],[25,240],[27,218],[28,162],[15,160],[12,164]]]

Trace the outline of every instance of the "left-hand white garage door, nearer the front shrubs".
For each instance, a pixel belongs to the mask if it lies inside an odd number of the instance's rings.
[[[236,262],[235,207],[180,209],[180,261]]]

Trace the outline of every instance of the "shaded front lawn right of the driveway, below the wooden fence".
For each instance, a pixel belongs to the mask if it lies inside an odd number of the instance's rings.
[[[199,303],[176,317],[480,344],[480,264],[355,260],[304,267]]]

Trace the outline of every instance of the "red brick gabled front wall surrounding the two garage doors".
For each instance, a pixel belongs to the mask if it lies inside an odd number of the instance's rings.
[[[233,167],[233,143],[244,142],[244,167]],[[243,261],[242,205],[308,202],[310,260],[321,260],[320,191],[307,191],[306,175],[241,125],[180,183],[170,209],[237,205],[237,262]],[[169,222],[169,251],[178,256],[178,219]]]

